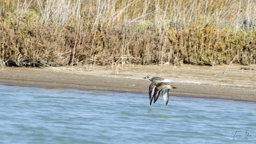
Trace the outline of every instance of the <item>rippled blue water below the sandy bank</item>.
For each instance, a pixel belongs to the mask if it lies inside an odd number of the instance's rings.
[[[150,106],[147,94],[7,85],[0,85],[0,94],[0,143],[256,140],[256,103],[251,102],[174,96],[168,105],[159,97]],[[235,131],[240,132],[234,137]]]

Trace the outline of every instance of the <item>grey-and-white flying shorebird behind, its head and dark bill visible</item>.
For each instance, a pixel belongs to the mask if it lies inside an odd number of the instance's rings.
[[[149,79],[152,83],[149,85],[149,99],[150,99],[150,105],[154,99],[154,103],[156,101],[155,99],[155,96],[154,96],[154,92],[155,92],[155,83],[156,82],[166,82],[166,83],[172,83],[173,80],[168,80],[168,79],[165,79],[163,77],[157,77],[157,76],[146,76],[144,77],[143,79]]]

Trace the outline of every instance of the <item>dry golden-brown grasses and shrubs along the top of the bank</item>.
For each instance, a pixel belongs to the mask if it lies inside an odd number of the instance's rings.
[[[0,0],[0,66],[254,64],[252,0]]]

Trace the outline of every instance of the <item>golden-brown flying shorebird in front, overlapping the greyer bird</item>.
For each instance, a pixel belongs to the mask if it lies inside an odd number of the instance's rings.
[[[156,86],[155,88],[155,92],[154,92],[154,103],[156,102],[156,100],[158,99],[160,92],[162,91],[162,95],[164,97],[164,102],[167,105],[168,101],[169,101],[169,90],[171,88],[177,88],[173,85],[170,85],[168,83],[163,83],[163,82],[156,82],[154,83],[154,85]]]

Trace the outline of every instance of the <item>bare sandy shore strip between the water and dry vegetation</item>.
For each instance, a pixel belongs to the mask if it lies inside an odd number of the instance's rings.
[[[233,99],[256,102],[256,70],[241,70],[240,67],[256,68],[256,65],[195,66],[187,65],[120,65],[48,68],[12,68],[0,71],[0,83],[8,85],[27,85],[43,87],[78,88],[84,90],[111,90],[122,92],[148,93],[150,81],[147,75],[160,76],[174,80],[178,87],[169,92],[170,96],[190,96]]]

